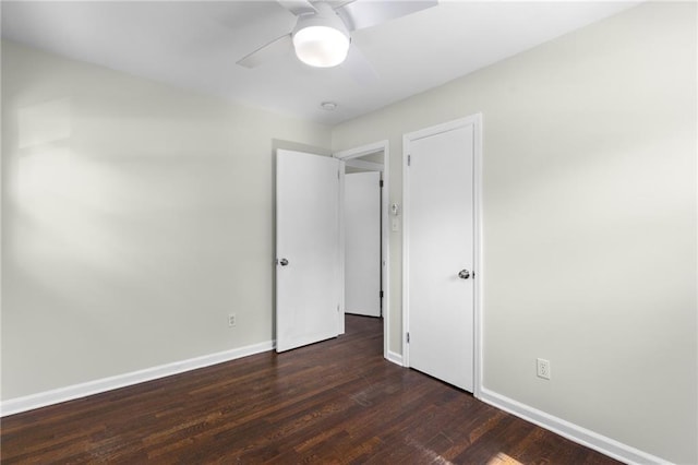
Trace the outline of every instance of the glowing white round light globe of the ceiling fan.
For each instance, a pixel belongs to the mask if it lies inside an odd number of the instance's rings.
[[[329,26],[308,26],[293,34],[298,59],[316,68],[330,68],[344,62],[349,44],[349,36]]]

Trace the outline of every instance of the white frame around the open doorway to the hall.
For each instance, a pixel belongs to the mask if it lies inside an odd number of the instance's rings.
[[[389,182],[389,142],[387,140],[374,142],[366,145],[361,145],[359,147],[349,148],[346,151],[340,151],[335,153],[333,156],[335,158],[339,158],[345,162],[346,165],[360,166],[363,165],[365,168],[371,168],[375,170],[380,170],[382,172],[383,178],[383,192],[381,195],[381,262],[383,263],[381,270],[381,276],[383,281],[383,357],[393,361],[388,355],[388,342],[390,341],[390,249],[389,249],[389,225],[388,225],[388,198],[390,192],[390,182]],[[363,160],[354,160],[353,158],[358,158],[364,155],[370,155],[374,153],[383,152],[383,166],[381,167],[378,164],[363,162]],[[344,172],[342,172],[344,175]],[[342,176],[344,177],[344,176]],[[340,208],[340,235],[341,235],[341,252],[340,252],[340,267],[345,269],[345,237],[344,237],[344,218],[345,218],[345,196],[344,196],[344,180],[340,186],[341,193],[339,198],[339,208]],[[344,318],[345,314],[345,288],[342,286],[342,295],[341,295],[341,314]],[[344,333],[344,319],[341,326]]]

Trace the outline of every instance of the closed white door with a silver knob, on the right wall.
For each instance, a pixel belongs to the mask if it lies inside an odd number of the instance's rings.
[[[470,392],[474,136],[473,121],[406,135],[408,363]]]

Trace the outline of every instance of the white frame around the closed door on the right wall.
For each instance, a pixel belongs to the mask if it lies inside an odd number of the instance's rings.
[[[482,289],[484,267],[482,262],[482,114],[471,115],[445,123],[431,126],[402,135],[402,362],[410,366],[409,345],[409,238],[410,238],[410,177],[408,156],[412,141],[436,135],[454,129],[473,126],[473,395],[480,397],[482,389]]]

